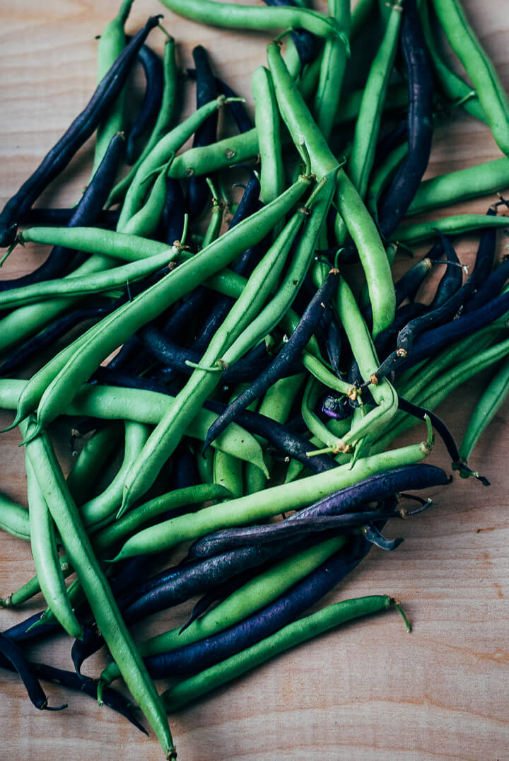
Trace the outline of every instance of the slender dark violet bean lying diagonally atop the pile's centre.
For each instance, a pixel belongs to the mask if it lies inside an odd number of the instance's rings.
[[[236,419],[241,410],[246,409],[246,407],[257,399],[269,386],[275,384],[275,381],[282,377],[285,368],[287,368],[289,364],[293,364],[293,362],[300,356],[302,349],[304,349],[304,346],[313,335],[313,331],[320,320],[322,312],[336,288],[336,275],[339,275],[337,269],[331,269],[329,271],[323,284],[320,286],[317,293],[311,299],[307,309],[304,311],[301,320],[299,320],[299,323],[288,339],[288,342],[283,346],[277,357],[271,362],[269,368],[260,374],[247,390],[237,396],[234,402],[228,406],[227,410],[219,416],[214,423],[212,423],[210,428],[208,428],[207,438],[205,438],[205,444],[203,447],[204,451],[221,431],[226,428],[228,423]]]

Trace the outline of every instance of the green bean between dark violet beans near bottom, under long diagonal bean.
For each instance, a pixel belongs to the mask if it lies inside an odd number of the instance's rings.
[[[181,632],[180,627],[177,627],[142,642],[139,645],[142,657],[147,658],[148,655],[170,652],[175,648],[190,645],[192,642],[199,642],[205,637],[218,634],[229,626],[234,626],[235,623],[247,618],[256,610],[272,603],[290,587],[313,572],[319,565],[322,565],[334,552],[342,549],[345,543],[345,537],[334,537],[279,561],[268,571],[259,574],[251,581],[247,581],[247,584],[243,584],[240,589],[233,592],[213,610],[193,621],[185,631]],[[109,684],[118,676],[118,670],[112,664],[103,671],[100,680]]]

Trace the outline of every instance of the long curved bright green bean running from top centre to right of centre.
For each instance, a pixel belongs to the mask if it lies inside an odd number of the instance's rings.
[[[311,167],[317,177],[329,174],[339,164],[314,123],[304,100],[295,90],[275,43],[268,46],[267,59],[279,110],[297,149],[302,151],[302,145],[306,146]],[[342,169],[339,169],[337,175],[335,202],[345,220],[348,233],[358,248],[373,310],[373,334],[377,336],[392,323],[396,305],[387,254],[371,215]]]

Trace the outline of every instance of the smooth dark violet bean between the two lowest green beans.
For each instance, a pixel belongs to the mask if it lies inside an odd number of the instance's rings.
[[[353,537],[348,552],[337,552],[287,594],[236,626],[201,642],[145,658],[153,679],[196,673],[223,661],[286,626],[339,584],[371,549],[364,537]]]

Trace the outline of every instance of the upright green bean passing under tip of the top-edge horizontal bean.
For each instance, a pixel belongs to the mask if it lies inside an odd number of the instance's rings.
[[[348,38],[350,33],[350,0],[329,0],[329,16],[335,18]],[[341,98],[348,51],[342,40],[329,37],[323,46],[322,64],[313,113],[318,129],[329,140]]]

